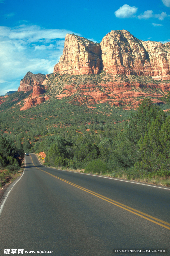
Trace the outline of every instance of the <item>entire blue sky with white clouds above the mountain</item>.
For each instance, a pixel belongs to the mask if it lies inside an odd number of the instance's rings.
[[[146,41],[170,41],[170,0],[0,0],[0,95],[17,90],[24,75],[52,73],[74,33],[100,42],[126,29]]]

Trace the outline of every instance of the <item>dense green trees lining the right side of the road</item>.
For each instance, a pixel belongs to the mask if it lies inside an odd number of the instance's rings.
[[[151,100],[143,100],[138,111],[117,127],[108,124],[97,133],[80,128],[80,133],[56,131],[36,142],[34,150],[44,151],[46,164],[56,167],[128,176],[170,175],[170,116]]]

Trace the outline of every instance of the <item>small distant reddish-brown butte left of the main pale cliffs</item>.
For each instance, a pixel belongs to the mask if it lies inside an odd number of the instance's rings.
[[[30,71],[27,72],[27,74],[24,76],[23,79],[21,79],[20,86],[18,88],[18,92],[20,91],[31,91],[33,90],[34,83],[42,84],[45,80],[44,74],[33,74]]]

